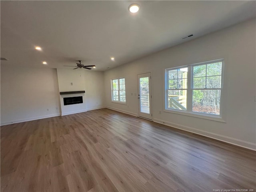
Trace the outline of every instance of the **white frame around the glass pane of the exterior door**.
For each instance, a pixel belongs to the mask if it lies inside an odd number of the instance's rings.
[[[140,99],[139,99],[139,94],[140,94],[140,81],[139,81],[139,76],[140,75],[143,75],[143,74],[149,74],[149,92],[150,92],[150,97],[149,97],[149,110],[150,110],[150,114],[146,114],[146,113],[143,113],[143,112],[140,112]],[[147,77],[147,76],[145,76]],[[144,119],[147,119],[147,120],[153,120],[153,114],[152,114],[152,72],[151,71],[148,71],[148,72],[144,72],[144,73],[140,73],[140,74],[137,74],[137,85],[138,85],[138,117],[140,118],[144,118]],[[140,113],[142,114],[146,114],[148,115],[148,117],[143,117],[143,116],[140,116]]]

